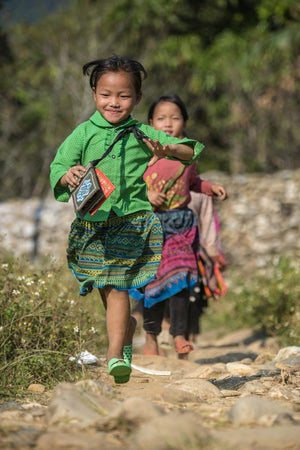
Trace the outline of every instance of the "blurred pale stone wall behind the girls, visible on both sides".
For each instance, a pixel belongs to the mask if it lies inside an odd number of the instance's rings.
[[[274,175],[229,177],[220,172],[202,178],[223,184],[229,198],[215,201],[228,263],[246,272],[267,267],[274,256],[300,256],[300,170]],[[0,245],[15,255],[64,257],[71,202],[32,198],[0,203]]]

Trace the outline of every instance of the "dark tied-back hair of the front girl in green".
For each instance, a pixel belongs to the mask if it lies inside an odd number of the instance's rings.
[[[134,59],[124,58],[122,56],[111,56],[106,59],[98,59],[86,63],[82,67],[84,75],[90,75],[90,86],[96,88],[101,75],[108,72],[128,72],[132,75],[134,87],[139,94],[142,88],[142,80],[147,78],[147,72],[141,63]],[[142,77],[143,75],[143,77]]]

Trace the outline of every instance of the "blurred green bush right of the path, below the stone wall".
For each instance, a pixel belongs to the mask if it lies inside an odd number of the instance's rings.
[[[207,311],[210,327],[252,327],[281,345],[300,345],[299,279],[299,265],[284,257],[269,275],[234,278],[226,298]]]

